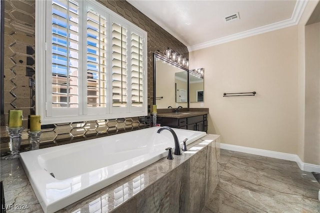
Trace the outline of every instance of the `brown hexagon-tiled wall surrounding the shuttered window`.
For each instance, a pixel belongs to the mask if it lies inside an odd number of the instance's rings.
[[[112,11],[136,24],[148,34],[148,105],[152,104],[153,57],[167,47],[188,57],[187,47],[167,31],[124,0],[98,0]],[[34,88],[34,17],[35,0],[5,0],[4,2],[4,116],[1,123],[8,123],[8,110],[23,110],[23,126],[28,128],[28,115],[35,113]],[[42,89],[42,88],[40,88]],[[2,101],[2,100],[1,100]],[[129,117],[112,120],[92,120],[76,123],[55,123],[42,127],[41,145],[84,140],[149,126],[149,117]],[[8,150],[8,135],[1,126],[1,154]],[[26,131],[22,144],[29,146]]]

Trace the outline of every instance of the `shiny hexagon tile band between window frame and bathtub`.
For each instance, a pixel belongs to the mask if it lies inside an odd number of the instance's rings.
[[[58,123],[45,127],[41,129],[41,148],[147,128],[150,127],[150,116]],[[8,142],[9,137],[3,126],[1,127],[1,155],[8,153]],[[28,135],[23,131],[21,150],[29,149]]]

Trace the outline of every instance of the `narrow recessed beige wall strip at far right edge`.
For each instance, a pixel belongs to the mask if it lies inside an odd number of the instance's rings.
[[[320,22],[305,26],[304,160],[320,165]]]

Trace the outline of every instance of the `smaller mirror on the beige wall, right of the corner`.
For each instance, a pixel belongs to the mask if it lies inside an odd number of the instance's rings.
[[[203,72],[203,68],[189,71],[190,102],[203,102]]]

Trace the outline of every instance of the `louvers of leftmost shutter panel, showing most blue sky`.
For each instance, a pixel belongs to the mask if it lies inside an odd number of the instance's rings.
[[[79,5],[77,0],[52,0],[46,79],[48,115],[79,113]],[[63,109],[64,108],[64,109]],[[69,108],[69,110],[65,110]],[[62,113],[61,113],[62,112]]]

